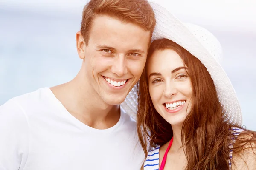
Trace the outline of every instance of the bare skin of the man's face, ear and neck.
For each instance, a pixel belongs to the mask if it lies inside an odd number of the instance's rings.
[[[133,23],[108,16],[96,16],[88,45],[81,32],[76,33],[76,47],[83,60],[77,76],[52,87],[56,98],[84,124],[107,129],[120,117],[119,104],[139,80],[145,66],[150,32]],[[118,88],[105,77],[123,81]]]

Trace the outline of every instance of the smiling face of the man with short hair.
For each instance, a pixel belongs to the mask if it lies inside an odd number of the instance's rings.
[[[82,66],[93,94],[108,105],[122,103],[142,74],[150,39],[140,26],[97,16]]]

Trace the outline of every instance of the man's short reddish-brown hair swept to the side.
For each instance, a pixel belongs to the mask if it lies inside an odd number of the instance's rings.
[[[154,11],[147,0],[90,0],[84,6],[81,34],[88,45],[92,21],[96,16],[108,15],[124,22],[137,24],[151,35],[156,25]]]

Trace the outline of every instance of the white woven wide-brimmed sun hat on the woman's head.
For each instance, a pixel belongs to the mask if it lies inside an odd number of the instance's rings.
[[[205,28],[183,23],[157,3],[150,3],[157,20],[152,41],[166,38],[176,42],[197,57],[211,75],[218,99],[224,109],[223,116],[230,124],[242,125],[242,113],[235,90],[220,65],[222,50],[220,42]],[[137,115],[137,85],[130,91],[121,107],[133,119]]]

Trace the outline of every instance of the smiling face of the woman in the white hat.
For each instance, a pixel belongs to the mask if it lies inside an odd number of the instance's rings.
[[[172,49],[154,51],[147,63],[149,93],[157,112],[182,125],[192,106],[192,85],[183,60]]]

